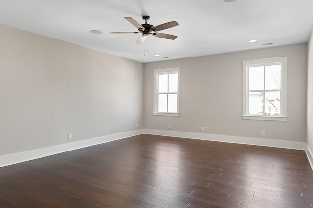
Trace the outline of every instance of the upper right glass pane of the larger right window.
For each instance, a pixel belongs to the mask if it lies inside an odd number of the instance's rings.
[[[279,90],[281,77],[281,65],[265,67],[265,89]]]

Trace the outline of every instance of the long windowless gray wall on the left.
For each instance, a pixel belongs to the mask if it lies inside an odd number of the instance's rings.
[[[0,34],[0,155],[143,128],[142,63],[4,25]]]

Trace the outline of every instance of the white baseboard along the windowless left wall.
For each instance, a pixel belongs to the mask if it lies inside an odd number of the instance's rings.
[[[25,162],[28,160],[33,160],[33,159],[37,159],[37,158],[41,158],[41,157],[45,157],[45,156],[49,156],[53,154],[58,154],[58,153],[62,153],[65,151],[77,150],[77,149],[84,148],[84,147],[111,142],[114,140],[123,139],[123,138],[127,138],[130,136],[140,135],[142,134],[142,132],[143,130],[140,129],[140,130],[135,130],[135,131],[130,131],[130,132],[122,132],[122,133],[116,133],[116,134],[101,136],[101,137],[92,138],[92,139],[86,139],[86,140],[77,141],[77,142],[71,142],[67,144],[56,145],[52,147],[41,148],[37,150],[3,155],[3,156],[0,156],[0,167],[12,165],[16,163],[21,163],[21,162]]]

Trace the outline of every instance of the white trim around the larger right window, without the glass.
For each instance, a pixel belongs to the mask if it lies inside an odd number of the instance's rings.
[[[245,60],[243,62],[243,119],[247,120],[268,120],[268,121],[287,121],[287,57],[262,58]],[[281,64],[281,116],[249,115],[248,112],[248,69],[253,66]]]

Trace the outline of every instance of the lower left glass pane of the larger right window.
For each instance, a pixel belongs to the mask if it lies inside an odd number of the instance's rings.
[[[249,93],[249,115],[263,115],[262,92]]]

